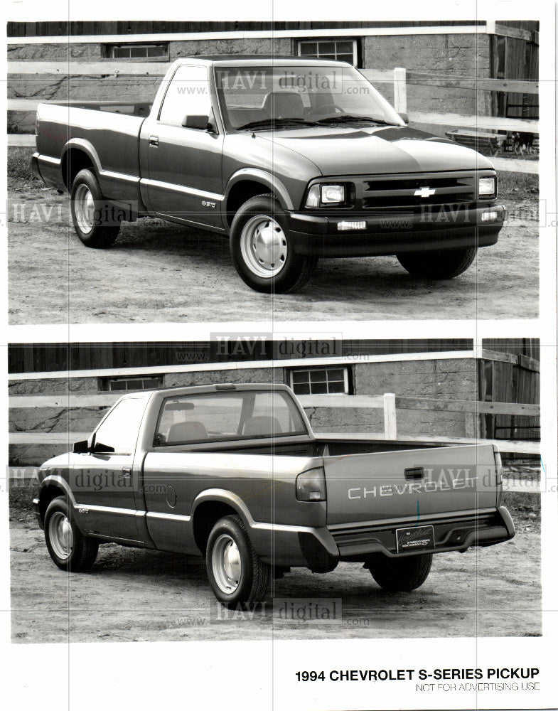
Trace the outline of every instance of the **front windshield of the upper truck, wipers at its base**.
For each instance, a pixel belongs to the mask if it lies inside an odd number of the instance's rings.
[[[225,124],[232,129],[294,125],[404,125],[360,72],[339,66],[217,68]]]

